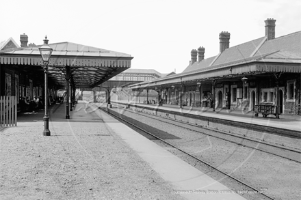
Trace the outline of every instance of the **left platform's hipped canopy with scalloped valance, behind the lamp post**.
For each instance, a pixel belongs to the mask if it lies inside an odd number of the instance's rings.
[[[0,63],[21,66],[27,71],[42,71],[39,47],[25,46],[0,51]],[[77,88],[93,88],[131,67],[131,55],[71,42],[49,44],[53,53],[49,60],[49,78],[58,85],[66,84],[66,70],[70,69],[70,83]]]

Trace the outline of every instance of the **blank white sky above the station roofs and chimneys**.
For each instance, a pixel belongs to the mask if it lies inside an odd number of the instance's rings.
[[[181,73],[190,51],[218,55],[219,33],[230,47],[265,35],[276,19],[276,38],[301,31],[300,0],[2,0],[0,42],[20,35],[29,43],[73,42],[134,57],[131,68]],[[28,44],[29,44],[28,43]]]

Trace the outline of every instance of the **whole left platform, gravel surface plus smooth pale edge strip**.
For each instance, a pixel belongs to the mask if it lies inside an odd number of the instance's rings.
[[[1,130],[0,199],[244,199],[99,106],[51,106],[50,137],[43,110]]]

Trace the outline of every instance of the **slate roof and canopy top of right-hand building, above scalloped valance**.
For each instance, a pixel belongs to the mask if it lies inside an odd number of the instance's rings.
[[[266,37],[258,38],[244,44],[239,44],[227,48],[223,53],[215,57],[209,57],[202,61],[195,62],[180,74],[156,78],[151,81],[140,83],[141,86],[132,85],[132,87],[144,87],[143,85],[157,83],[172,83],[182,77],[194,78],[195,74],[209,72],[212,70],[222,70],[229,66],[237,66],[244,63],[274,62],[274,63],[300,63],[301,61],[301,31],[284,35],[273,40],[267,40]],[[214,61],[214,63],[212,63]],[[212,63],[212,64],[211,64]],[[300,66],[293,66],[293,72],[300,71]],[[177,79],[178,78],[178,79]],[[187,78],[186,78],[187,79]],[[187,79],[187,80],[188,80]],[[182,81],[182,79],[181,79]]]

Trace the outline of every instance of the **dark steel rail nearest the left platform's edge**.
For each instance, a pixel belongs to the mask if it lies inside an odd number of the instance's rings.
[[[155,134],[149,132],[148,130],[144,130],[144,128],[141,128],[141,127],[139,127],[139,126],[137,126],[137,125],[135,125],[135,124],[129,122],[127,119],[120,117],[120,114],[119,114],[119,113],[116,114],[115,111],[112,111],[112,110],[110,110],[110,109],[101,109],[101,110],[102,110],[102,111],[105,111],[105,112],[108,113],[109,115],[114,116],[116,119],[120,120],[121,122],[125,122],[125,124],[129,124],[130,126],[136,128],[136,129],[138,129],[138,130],[141,130],[142,132],[144,132],[144,133],[146,133],[146,134],[149,134],[151,137],[154,137],[155,139],[161,141],[162,143],[164,143],[164,144],[166,144],[166,145],[168,145],[168,146],[170,146],[170,147],[176,149],[177,151],[179,151],[179,152],[181,152],[181,153],[183,153],[183,154],[189,156],[190,158],[192,158],[192,159],[194,159],[194,160],[196,160],[196,161],[198,161],[198,162],[200,162],[200,163],[202,163],[202,164],[204,164],[204,165],[207,165],[207,167],[213,169],[214,171],[218,171],[218,173],[221,173],[222,175],[225,175],[226,177],[230,178],[231,180],[234,180],[235,182],[237,182],[237,183],[243,185],[244,187],[247,188],[246,190],[248,190],[248,191],[251,192],[252,194],[259,195],[259,197],[257,197],[257,198],[276,200],[276,199],[274,199],[273,197],[270,197],[270,196],[266,195],[266,194],[263,192],[263,190],[257,189],[257,188],[255,188],[255,187],[253,187],[253,186],[250,186],[250,184],[246,184],[246,182],[243,182],[243,181],[241,181],[241,180],[238,180],[237,178],[233,177],[233,175],[228,174],[228,173],[226,173],[226,172],[224,172],[224,171],[221,171],[221,170],[218,169],[217,167],[214,167],[213,165],[211,165],[209,162],[206,162],[206,161],[204,161],[204,160],[202,160],[202,159],[200,159],[200,158],[197,158],[196,156],[194,156],[194,155],[190,154],[189,152],[187,152],[187,151],[181,149],[180,147],[176,147],[176,145],[173,145],[172,143],[169,143],[169,142],[166,141],[165,139],[161,139],[160,137],[157,137],[157,135],[155,135]]]

